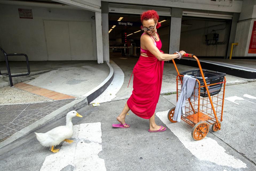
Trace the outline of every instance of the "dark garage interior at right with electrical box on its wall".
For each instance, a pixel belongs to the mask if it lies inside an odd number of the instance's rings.
[[[203,58],[225,58],[231,20],[183,17],[180,50]]]

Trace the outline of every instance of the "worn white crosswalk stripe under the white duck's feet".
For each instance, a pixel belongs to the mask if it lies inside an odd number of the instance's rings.
[[[98,154],[102,151],[101,123],[82,123],[74,125],[71,144],[64,142],[60,151],[45,158],[40,171],[61,170],[68,165],[74,170],[106,170],[104,159]]]

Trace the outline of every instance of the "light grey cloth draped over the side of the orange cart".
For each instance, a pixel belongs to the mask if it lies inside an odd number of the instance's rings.
[[[194,91],[195,88],[195,91]],[[195,96],[194,96],[195,95]],[[198,99],[198,84],[196,78],[192,78],[190,75],[183,76],[181,93],[178,98],[175,110],[174,110],[174,121],[180,122],[181,113],[185,114],[186,99],[197,100]]]

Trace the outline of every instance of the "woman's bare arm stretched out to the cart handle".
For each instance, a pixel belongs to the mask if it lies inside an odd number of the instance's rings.
[[[165,54],[161,53],[157,47],[155,46],[153,40],[149,35],[143,35],[141,36],[141,41],[140,41],[143,46],[145,46],[149,52],[151,52],[159,61],[170,61],[172,59],[176,59],[179,57],[179,54]],[[183,55],[186,52],[180,51],[180,54]]]

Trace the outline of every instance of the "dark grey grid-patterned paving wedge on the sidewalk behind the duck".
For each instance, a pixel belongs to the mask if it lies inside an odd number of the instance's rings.
[[[0,141],[73,100],[0,106]]]

